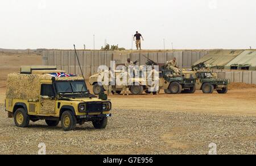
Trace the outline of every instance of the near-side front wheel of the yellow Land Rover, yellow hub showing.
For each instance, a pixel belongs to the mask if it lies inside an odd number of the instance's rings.
[[[71,131],[76,128],[76,117],[71,111],[64,111],[61,115],[61,127],[64,131]]]

